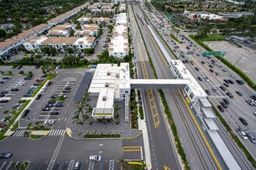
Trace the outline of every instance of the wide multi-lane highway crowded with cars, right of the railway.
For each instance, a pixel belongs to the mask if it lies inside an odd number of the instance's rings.
[[[150,19],[157,20],[157,17],[154,17],[153,15],[150,15]],[[164,19],[163,19],[164,20]],[[206,82],[205,80],[199,81],[199,84],[201,85],[202,89],[209,90],[211,95],[209,95],[209,101],[213,103],[213,106],[216,107],[217,105],[220,105],[220,101],[226,98],[229,100],[230,104],[227,109],[223,112],[222,116],[227,121],[227,123],[230,125],[230,128],[234,131],[234,134],[237,135],[238,138],[240,138],[240,135],[237,134],[236,128],[240,127],[245,132],[250,131],[251,134],[256,136],[256,124],[254,124],[256,117],[253,113],[255,113],[256,108],[253,106],[249,106],[245,102],[245,100],[251,100],[251,97],[249,97],[251,94],[255,93],[254,90],[251,90],[250,87],[247,86],[247,84],[240,85],[236,82],[237,79],[240,79],[240,77],[234,73],[234,71],[230,70],[227,66],[223,65],[218,59],[216,59],[214,56],[211,56],[211,58],[207,58],[202,56],[201,54],[205,52],[204,49],[202,49],[199,45],[197,45],[196,42],[193,42],[192,39],[189,39],[188,36],[186,36],[185,33],[180,32],[177,36],[179,41],[182,41],[182,44],[179,44],[178,42],[171,42],[172,39],[168,36],[171,33],[170,25],[168,25],[168,21],[164,20],[158,20],[157,22],[154,22],[155,26],[157,26],[159,29],[161,28],[162,34],[167,35],[163,36],[164,40],[168,42],[168,45],[171,47],[171,49],[175,49],[176,56],[181,56],[180,59],[185,60],[188,59],[189,61],[193,61],[195,65],[191,65],[190,63],[186,63],[186,67],[189,70],[190,73],[195,77],[196,80],[198,76],[200,76],[202,79],[203,77],[207,76],[209,78],[209,82]],[[164,24],[164,27],[160,27],[159,24]],[[175,34],[176,36],[176,34]],[[184,39],[183,36],[185,36]],[[175,45],[176,44],[176,45]],[[176,46],[176,48],[175,48]],[[178,46],[178,48],[177,48]],[[189,46],[190,49],[186,49],[186,47]],[[186,54],[188,51],[192,51],[192,55]],[[183,53],[184,58],[182,58],[181,52]],[[199,56],[197,56],[199,54]],[[211,63],[211,60],[215,61],[216,63],[222,64],[222,67],[213,66],[213,63]],[[203,61],[205,64],[202,64],[201,61]],[[209,63],[207,63],[208,61]],[[220,75],[216,75],[216,73],[211,73],[209,71],[210,67],[209,65],[212,65],[212,70],[214,72],[220,73]],[[199,71],[195,70],[195,67],[199,68]],[[227,72],[223,71],[223,68],[227,70]],[[230,76],[230,74],[234,75],[234,78]],[[226,87],[226,91],[223,91],[220,89],[220,86],[224,86],[224,79],[226,80],[233,80],[234,84],[229,83],[229,87]],[[212,88],[216,87],[219,93],[214,93]],[[239,96],[235,91],[240,91],[243,96]],[[231,93],[234,98],[230,98],[227,96],[227,92]],[[244,117],[244,119],[247,121],[248,125],[244,126],[239,120],[239,117]],[[247,150],[251,153],[251,155],[256,159],[256,147],[250,140],[243,140],[240,138],[240,141],[244,144],[244,146],[247,148]]]

